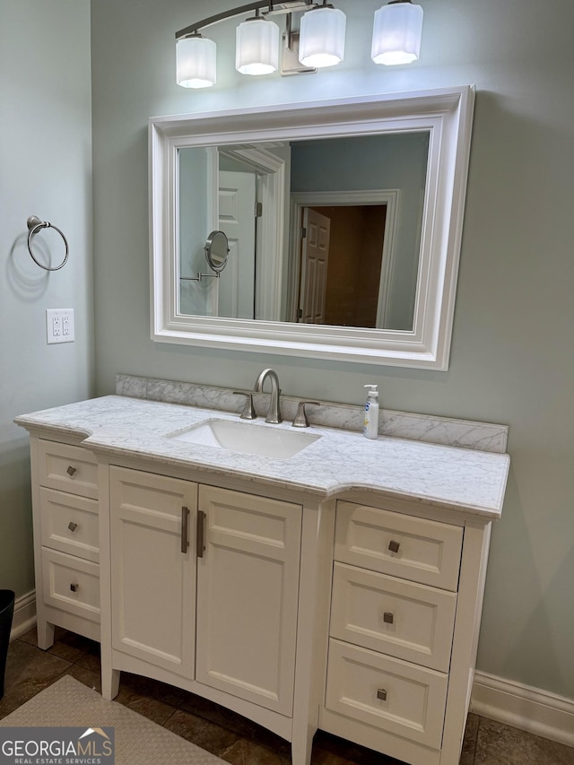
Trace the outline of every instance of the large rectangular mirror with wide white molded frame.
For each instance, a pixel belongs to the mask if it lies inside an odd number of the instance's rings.
[[[152,338],[448,369],[474,91],[150,120]],[[196,282],[209,231],[229,240]]]

